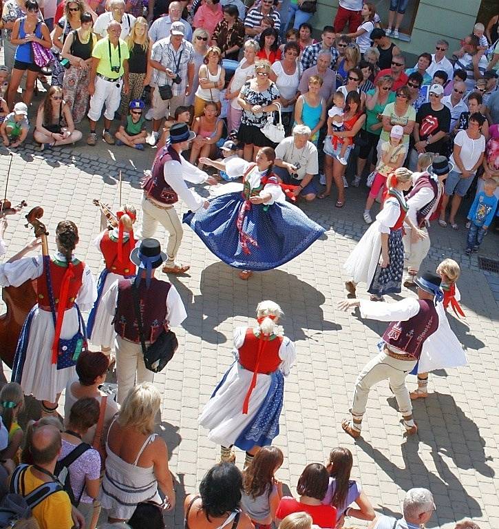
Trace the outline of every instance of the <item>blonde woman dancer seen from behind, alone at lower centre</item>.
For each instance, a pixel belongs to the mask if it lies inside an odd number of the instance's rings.
[[[262,301],[257,326],[235,329],[235,362],[199,419],[209,439],[221,445],[221,461],[235,461],[237,446],[246,451],[246,466],[279,433],[284,377],[296,359],[295,345],[277,328],[281,316],[277,303]]]

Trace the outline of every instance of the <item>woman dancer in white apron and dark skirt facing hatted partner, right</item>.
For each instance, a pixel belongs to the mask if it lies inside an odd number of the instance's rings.
[[[383,301],[383,294],[401,292],[404,222],[414,230],[415,237],[425,237],[423,231],[406,216],[408,208],[403,191],[408,191],[412,185],[412,172],[405,167],[388,174],[389,189],[383,209],[343,265],[352,278],[345,283],[349,297],[355,297],[359,282],[368,285],[371,301]]]

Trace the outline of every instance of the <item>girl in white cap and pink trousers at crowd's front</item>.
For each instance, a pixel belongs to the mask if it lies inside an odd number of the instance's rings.
[[[371,190],[369,191],[367,200],[365,200],[363,218],[366,224],[371,224],[372,222],[371,208],[379,191],[382,188],[386,188],[388,174],[402,167],[407,154],[405,145],[402,143],[403,136],[404,129],[401,125],[394,125],[390,131],[390,140],[381,143],[381,156],[379,157],[378,165],[376,165]]]

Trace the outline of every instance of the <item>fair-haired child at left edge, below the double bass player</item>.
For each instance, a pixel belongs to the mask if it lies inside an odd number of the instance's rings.
[[[2,450],[2,459],[12,459],[19,464],[19,449],[23,441],[23,429],[17,422],[17,415],[24,408],[23,389],[17,382],[9,382],[0,391],[0,411],[3,425],[9,433],[9,444]]]

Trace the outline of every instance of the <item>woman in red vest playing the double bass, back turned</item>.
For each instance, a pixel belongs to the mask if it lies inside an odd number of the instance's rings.
[[[92,271],[74,256],[78,228],[69,220],[56,228],[57,251],[49,255],[47,231],[36,207],[26,216],[42,238],[42,256],[0,264],[0,286],[20,287],[36,281],[36,301],[23,325],[12,369],[12,380],[25,395],[42,402],[42,413],[56,412],[61,391],[74,377],[76,360],[86,348],[81,311],[92,308],[97,297]]]

